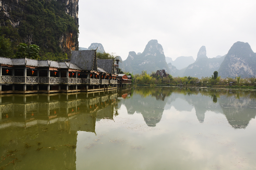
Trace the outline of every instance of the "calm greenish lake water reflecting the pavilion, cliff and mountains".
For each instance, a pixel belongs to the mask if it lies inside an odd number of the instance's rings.
[[[2,95],[0,169],[255,170],[256,92]]]

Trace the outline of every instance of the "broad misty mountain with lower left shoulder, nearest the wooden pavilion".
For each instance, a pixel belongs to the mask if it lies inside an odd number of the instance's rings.
[[[165,69],[167,73],[170,72],[165,61],[163,47],[156,39],[150,40],[141,54],[129,52],[127,59],[123,61],[122,69],[133,73],[141,73],[143,70],[152,73],[160,69]]]

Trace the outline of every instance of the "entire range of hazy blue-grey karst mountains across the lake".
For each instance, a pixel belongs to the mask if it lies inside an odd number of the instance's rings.
[[[98,50],[104,50],[99,43],[91,44],[88,49],[96,49],[97,47]],[[121,59],[120,56],[119,58]],[[210,77],[214,71],[218,71],[218,75],[222,78],[235,78],[237,76],[245,78],[256,76],[256,53],[252,51],[247,42],[238,41],[224,56],[208,58],[206,47],[202,46],[197,53],[196,61],[192,56],[180,56],[173,61],[172,58],[165,57],[162,45],[157,40],[152,39],[142,53],[129,52],[127,59],[120,62],[119,68],[124,72],[133,74],[141,73],[143,70],[152,73],[165,69],[174,77]]]

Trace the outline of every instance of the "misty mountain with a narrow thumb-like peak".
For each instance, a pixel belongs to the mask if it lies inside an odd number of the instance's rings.
[[[206,47],[202,46],[197,53],[195,63],[186,68],[184,76],[197,78],[211,76],[214,71],[219,69],[223,60],[224,56],[221,58],[208,58],[206,56]]]

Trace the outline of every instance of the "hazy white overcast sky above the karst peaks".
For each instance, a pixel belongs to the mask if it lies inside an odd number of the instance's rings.
[[[225,55],[237,41],[256,52],[256,0],[79,0],[79,47],[101,43],[123,60],[157,39],[166,57]]]

